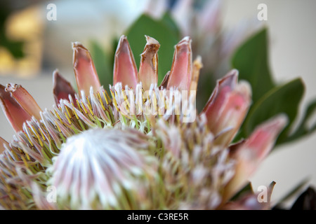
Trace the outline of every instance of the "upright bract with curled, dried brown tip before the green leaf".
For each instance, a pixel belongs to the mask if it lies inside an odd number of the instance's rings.
[[[149,90],[151,84],[158,82],[158,50],[160,44],[154,38],[145,36],[147,43],[141,54],[138,72],[138,81],[143,84],[144,90]]]

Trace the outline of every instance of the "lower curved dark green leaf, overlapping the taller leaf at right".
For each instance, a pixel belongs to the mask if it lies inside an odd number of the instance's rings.
[[[289,124],[279,135],[277,143],[287,139],[291,125],[298,113],[298,106],[303,98],[304,85],[301,78],[296,78],[284,85],[279,85],[266,92],[250,109],[244,121],[243,131],[249,136],[255,127],[279,113],[286,113]]]

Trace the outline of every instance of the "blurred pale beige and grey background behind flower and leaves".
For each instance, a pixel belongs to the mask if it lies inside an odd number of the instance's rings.
[[[232,51],[235,49],[234,45],[242,43],[243,38],[251,34],[251,30],[268,27],[269,63],[273,78],[277,83],[296,77],[303,78],[305,95],[300,107],[302,110],[311,99],[316,97],[316,1],[223,0],[216,2],[220,3],[220,16],[216,11],[204,20],[220,20],[220,29],[227,31],[228,38],[224,40],[228,41],[228,44],[225,46],[231,48],[222,50]],[[50,21],[46,18],[50,11],[47,8],[49,3],[54,3],[56,6],[57,20]],[[149,13],[152,18],[159,18],[166,8],[171,7],[174,9],[171,15],[178,22],[183,34],[186,32],[190,34],[192,29],[186,29],[188,26],[185,24],[185,18],[189,18],[190,14],[187,14],[185,8],[176,8],[176,3],[176,1],[161,0],[1,0],[0,83],[21,84],[32,94],[41,109],[51,109],[54,104],[52,92],[54,69],[59,69],[62,76],[75,86],[72,42],[79,41],[88,49],[92,43],[98,43],[105,52],[112,52],[115,40],[121,34],[125,34],[126,29],[142,13]],[[268,6],[267,21],[257,19],[259,3]],[[236,27],[238,27],[237,31]],[[211,29],[218,27],[212,25]],[[190,36],[194,41],[195,36],[193,34]],[[195,49],[201,50],[198,47]],[[203,58],[212,55],[211,50],[199,53]],[[217,63],[212,59],[209,62]],[[225,75],[228,71],[229,68],[224,62],[225,60],[222,59],[220,63],[218,62],[220,69],[218,67],[214,69],[213,75],[216,78]],[[204,62],[204,66],[208,65]],[[298,120],[301,118],[301,113]],[[11,141],[14,133],[4,113],[0,113],[0,124],[0,136]],[[310,178],[309,183],[316,186],[315,146],[316,134],[280,146],[278,151],[269,155],[251,179],[254,189],[261,185],[267,186],[271,181],[277,182],[272,194],[272,200],[277,202],[305,178]]]

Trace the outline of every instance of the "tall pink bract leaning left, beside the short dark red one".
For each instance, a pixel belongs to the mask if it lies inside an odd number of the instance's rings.
[[[89,94],[91,86],[95,92],[98,91],[101,86],[100,80],[90,52],[79,42],[72,43],[72,48],[74,50],[74,76],[79,94],[81,94],[81,90],[84,90],[85,94]]]

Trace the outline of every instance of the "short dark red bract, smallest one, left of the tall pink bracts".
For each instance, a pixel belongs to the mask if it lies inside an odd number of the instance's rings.
[[[53,95],[55,99],[55,103],[59,104],[60,99],[69,99],[69,95],[74,99],[75,91],[72,88],[72,85],[65,80],[58,70],[53,72]]]

